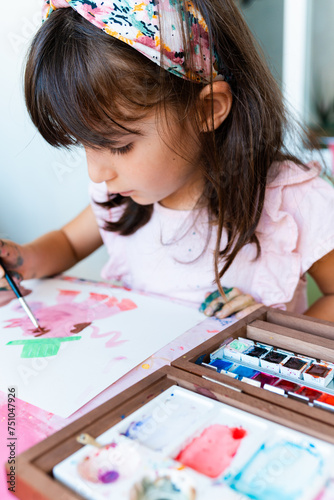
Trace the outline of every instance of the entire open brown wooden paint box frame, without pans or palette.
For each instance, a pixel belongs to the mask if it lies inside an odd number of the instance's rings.
[[[261,308],[182,356],[174,366],[158,370],[21,454],[16,465],[16,496],[24,500],[81,499],[52,475],[56,464],[82,448],[76,437],[83,432],[100,436],[172,386],[334,444],[333,413],[248,386],[211,370],[208,373],[206,367],[196,364],[200,356],[205,359],[225,339],[238,336],[334,361],[333,324]],[[207,376],[212,380],[203,378]]]

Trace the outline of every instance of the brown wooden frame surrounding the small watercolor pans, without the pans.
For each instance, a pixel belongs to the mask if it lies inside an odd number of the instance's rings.
[[[196,361],[198,363],[209,362],[209,354],[218,349],[224,340],[237,337],[246,337],[334,363],[334,323],[261,307],[172,362],[172,366],[175,368],[199,377],[208,377],[219,384],[226,384],[241,391],[243,394],[287,408],[318,422],[333,425],[334,414],[330,411],[254,387],[223,373],[210,370],[201,364],[196,364]],[[321,391],[323,388],[319,388],[319,390]]]

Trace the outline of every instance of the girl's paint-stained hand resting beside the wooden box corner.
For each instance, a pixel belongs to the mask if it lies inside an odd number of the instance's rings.
[[[236,318],[241,319],[263,305],[257,303],[251,295],[242,293],[238,288],[223,288],[223,290],[227,300],[216,290],[207,295],[199,310],[206,316],[216,316],[219,319],[237,313]]]

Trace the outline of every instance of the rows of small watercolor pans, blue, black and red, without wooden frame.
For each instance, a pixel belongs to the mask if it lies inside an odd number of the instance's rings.
[[[301,399],[334,412],[334,364],[263,345],[247,338],[228,339],[206,366],[255,387]]]

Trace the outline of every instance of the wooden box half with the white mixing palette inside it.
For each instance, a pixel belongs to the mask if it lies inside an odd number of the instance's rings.
[[[333,426],[166,366],[21,454],[16,495],[315,500],[333,460]]]

